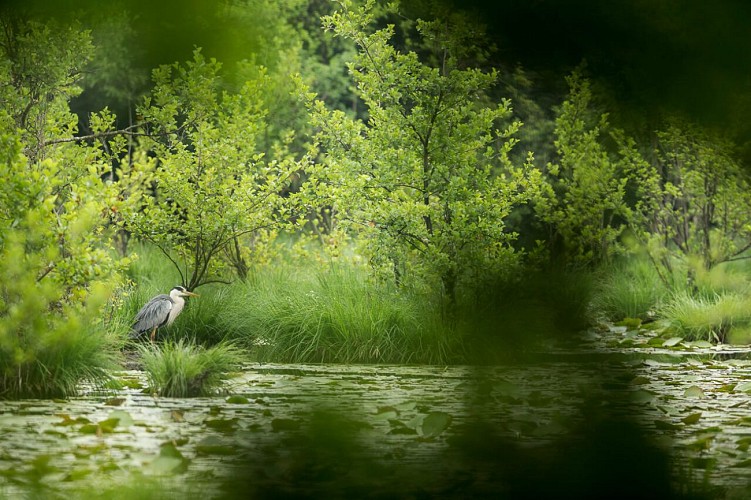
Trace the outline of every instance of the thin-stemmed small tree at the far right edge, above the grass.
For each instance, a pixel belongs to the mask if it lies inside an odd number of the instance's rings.
[[[751,182],[728,140],[677,119],[655,134],[650,154],[615,137],[637,200],[629,225],[663,281],[672,283],[676,262],[695,257],[711,269],[751,249]]]

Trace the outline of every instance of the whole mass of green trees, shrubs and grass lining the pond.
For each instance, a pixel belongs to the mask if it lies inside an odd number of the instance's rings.
[[[728,138],[613,119],[583,66],[557,75],[567,95],[536,94],[461,12],[221,3],[200,13],[244,45],[205,39],[150,80],[118,47],[135,13],[19,12],[0,16],[0,396],[101,380],[129,318],[178,283],[205,292],[164,338],[268,360],[446,363],[584,319],[714,340],[749,323],[750,181]]]

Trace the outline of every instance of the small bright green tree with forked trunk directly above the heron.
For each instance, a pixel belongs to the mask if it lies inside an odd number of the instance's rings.
[[[156,245],[193,289],[248,270],[248,239],[267,243],[288,219],[284,196],[299,168],[278,153],[266,162],[256,148],[266,110],[263,71],[235,93],[220,91],[220,64],[196,50],[185,65],[154,71],[152,95],[138,108],[141,141],[153,159],[154,195],[128,227]]]

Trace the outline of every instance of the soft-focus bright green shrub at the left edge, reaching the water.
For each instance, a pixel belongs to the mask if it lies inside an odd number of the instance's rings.
[[[39,278],[56,248],[35,239],[37,225],[27,229],[5,232],[0,245],[0,398],[74,395],[116,366],[119,342],[101,320],[109,284],[92,282],[71,300],[59,282]]]

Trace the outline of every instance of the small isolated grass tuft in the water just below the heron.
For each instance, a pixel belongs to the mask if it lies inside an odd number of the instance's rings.
[[[185,339],[139,345],[138,351],[152,390],[165,397],[213,394],[241,359],[229,344],[204,348]]]

